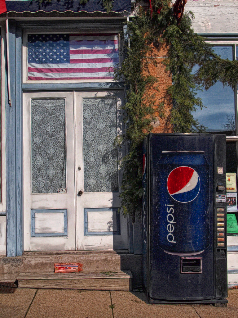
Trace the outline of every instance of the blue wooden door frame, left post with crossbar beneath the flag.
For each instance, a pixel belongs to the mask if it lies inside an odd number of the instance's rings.
[[[111,24],[114,20],[105,21]],[[22,90],[106,90],[123,89],[123,83],[39,83],[22,85],[22,33],[25,27],[33,27],[40,30],[48,24],[56,24],[56,21],[22,21],[9,20],[9,45],[10,45],[10,72],[6,74],[10,78],[11,102],[8,104],[6,91],[6,242],[7,257],[20,256],[23,253],[23,139],[22,139]],[[83,26],[84,23],[80,22]],[[90,22],[93,24],[93,21]],[[40,25],[41,24],[41,25]],[[59,24],[59,23],[58,23]],[[75,21],[60,21],[60,26],[69,28],[75,26]],[[57,25],[58,26],[58,25]]]

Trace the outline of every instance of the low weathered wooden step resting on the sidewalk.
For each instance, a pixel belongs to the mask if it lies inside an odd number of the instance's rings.
[[[21,273],[17,281],[19,288],[131,290],[131,273],[125,271]]]

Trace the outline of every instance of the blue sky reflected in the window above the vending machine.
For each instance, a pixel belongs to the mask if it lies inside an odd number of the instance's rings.
[[[232,60],[232,46],[214,46],[214,51],[221,58]],[[201,97],[207,108],[197,109],[193,116],[200,124],[208,127],[207,131],[232,130],[231,126],[224,128],[229,124],[227,116],[235,116],[235,95],[231,87],[216,83],[207,91],[198,91],[196,97]]]

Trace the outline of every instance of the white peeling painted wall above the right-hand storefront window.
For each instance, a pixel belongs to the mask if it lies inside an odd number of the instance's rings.
[[[193,28],[197,33],[237,33],[237,0],[188,0],[185,11],[195,15]]]

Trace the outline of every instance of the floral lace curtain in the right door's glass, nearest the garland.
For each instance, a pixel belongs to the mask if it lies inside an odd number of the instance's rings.
[[[118,191],[116,98],[83,98],[84,191]]]

